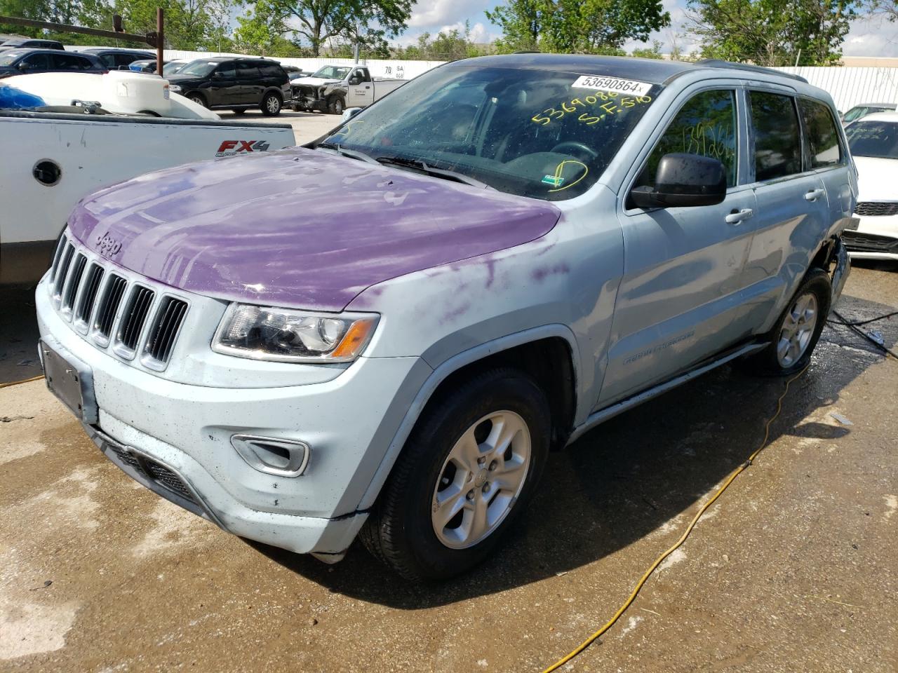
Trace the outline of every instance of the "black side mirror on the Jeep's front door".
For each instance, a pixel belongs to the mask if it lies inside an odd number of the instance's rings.
[[[633,188],[629,196],[640,208],[717,205],[726,198],[726,170],[718,159],[700,154],[665,154],[655,187]]]

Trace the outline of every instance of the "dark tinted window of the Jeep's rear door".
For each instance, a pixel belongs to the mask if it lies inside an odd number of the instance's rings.
[[[754,179],[801,172],[801,135],[795,101],[777,93],[749,92],[754,127]]]

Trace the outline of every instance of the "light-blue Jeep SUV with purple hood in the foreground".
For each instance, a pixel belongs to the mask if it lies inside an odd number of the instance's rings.
[[[495,549],[549,450],[723,363],[803,368],[856,195],[800,78],[456,61],[305,147],[84,198],[37,290],[40,354],[157,494],[440,578]]]

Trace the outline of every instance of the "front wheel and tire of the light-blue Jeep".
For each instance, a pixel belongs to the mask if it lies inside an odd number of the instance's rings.
[[[533,496],[550,425],[545,394],[514,369],[486,371],[436,398],[393,466],[363,544],[410,581],[480,564]]]

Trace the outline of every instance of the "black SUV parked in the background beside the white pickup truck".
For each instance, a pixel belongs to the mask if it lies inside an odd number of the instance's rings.
[[[166,79],[172,92],[199,105],[237,113],[259,108],[273,117],[290,96],[284,68],[267,58],[200,58]]]

